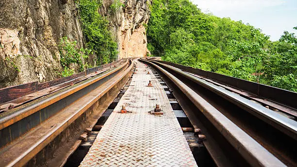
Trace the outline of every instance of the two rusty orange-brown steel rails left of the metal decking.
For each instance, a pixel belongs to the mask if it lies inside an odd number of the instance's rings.
[[[93,105],[120,81],[129,78],[132,68],[132,59],[127,59],[118,67],[29,102],[1,117],[1,166],[28,163],[64,130],[73,126],[82,114],[90,112]]]

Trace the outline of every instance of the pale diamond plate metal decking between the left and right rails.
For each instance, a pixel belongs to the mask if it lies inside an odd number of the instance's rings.
[[[163,87],[144,64],[136,69],[80,167],[197,167]],[[164,115],[148,113],[156,103]],[[132,113],[118,113],[123,104]]]

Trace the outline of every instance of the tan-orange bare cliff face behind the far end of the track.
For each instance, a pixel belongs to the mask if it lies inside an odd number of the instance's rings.
[[[120,0],[124,7],[110,10],[115,0],[103,0],[99,13],[110,21],[110,30],[118,43],[120,58],[143,57],[148,53],[145,25],[151,0]]]

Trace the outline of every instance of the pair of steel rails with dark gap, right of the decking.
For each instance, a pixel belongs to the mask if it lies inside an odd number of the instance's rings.
[[[194,127],[203,129],[208,136],[204,144],[218,166],[242,166],[243,161],[247,166],[297,165],[297,122],[292,117],[296,116],[296,110],[283,105],[279,108],[284,112],[279,114],[281,111],[272,111],[267,104],[247,99],[244,96],[247,92],[234,87],[231,92],[230,87],[214,84],[189,72],[191,69],[162,61],[142,61],[166,79]],[[290,112],[285,112],[286,109]]]

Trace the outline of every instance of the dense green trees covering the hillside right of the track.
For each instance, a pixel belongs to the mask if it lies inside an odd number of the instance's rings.
[[[189,0],[153,0],[147,37],[162,60],[297,91],[294,33],[271,42],[260,29],[204,14]]]

